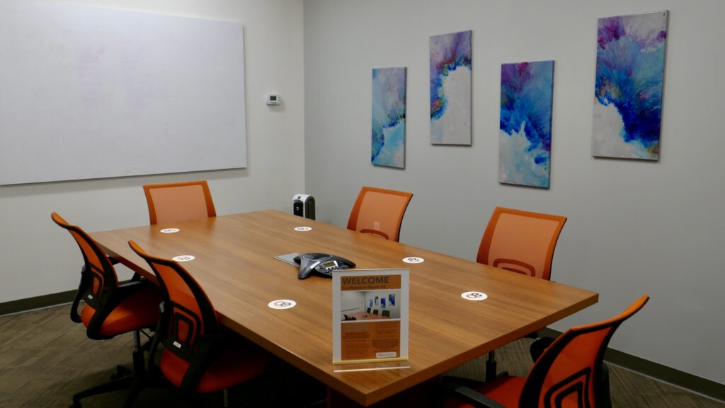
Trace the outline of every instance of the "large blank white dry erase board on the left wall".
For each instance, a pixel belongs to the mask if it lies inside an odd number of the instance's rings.
[[[0,185],[247,166],[241,24],[0,0]]]

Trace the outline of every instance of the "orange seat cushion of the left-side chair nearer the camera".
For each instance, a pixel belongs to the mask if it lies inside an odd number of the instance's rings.
[[[204,372],[196,385],[196,392],[204,394],[236,386],[260,375],[268,362],[268,354],[261,349],[251,346],[247,349],[229,347]],[[160,365],[165,377],[175,386],[181,386],[189,362],[164,350]]]

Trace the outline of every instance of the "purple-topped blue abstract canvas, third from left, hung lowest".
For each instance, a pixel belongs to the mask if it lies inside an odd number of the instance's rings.
[[[499,183],[549,188],[554,62],[501,65]]]

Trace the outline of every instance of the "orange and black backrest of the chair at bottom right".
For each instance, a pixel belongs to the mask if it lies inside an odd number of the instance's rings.
[[[649,300],[650,296],[642,296],[616,317],[573,327],[559,336],[531,367],[518,407],[597,407],[598,378],[609,340]]]

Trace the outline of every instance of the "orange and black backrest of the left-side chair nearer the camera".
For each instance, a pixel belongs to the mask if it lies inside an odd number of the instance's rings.
[[[168,351],[191,362],[204,335],[219,332],[220,325],[212,302],[178,262],[146,254],[133,241],[128,241],[128,245],[149,263],[159,281],[164,299],[159,341]]]

